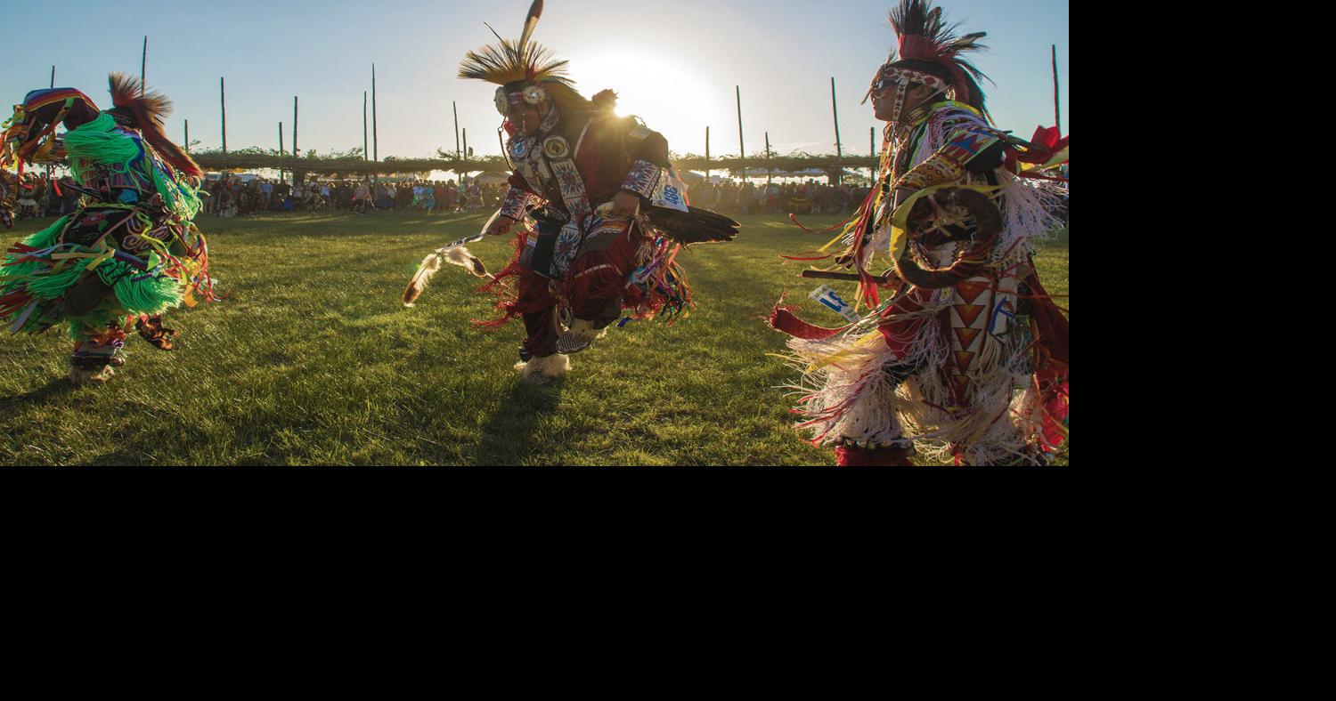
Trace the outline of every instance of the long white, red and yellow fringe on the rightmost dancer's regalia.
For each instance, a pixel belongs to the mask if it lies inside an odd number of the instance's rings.
[[[958,115],[950,119],[978,122]],[[927,123],[908,158],[910,167],[942,148],[946,122],[934,118]],[[894,150],[883,152],[886,179]],[[1059,226],[1053,216],[1057,198],[1045,183],[1027,182],[1005,168],[994,174],[1003,234],[979,275],[954,287],[906,286],[896,298],[879,299],[868,267],[876,251],[894,258],[890,212],[878,198],[879,188],[852,220],[823,232],[840,228],[839,236],[815,254],[795,258],[826,259],[843,243],[840,262],[855,266],[862,279],[859,302],[872,307],[844,328],[807,324],[779,306],[772,314],[772,326],[792,336],[790,361],[802,379],[790,389],[799,397],[796,413],[806,419],[799,427],[811,433],[815,445],[878,451],[912,442],[934,462],[1013,465],[1042,461],[1039,454],[1054,451],[1066,438],[1067,322],[1029,263],[1035,242]],[[978,174],[962,180],[987,184]],[[945,256],[933,260],[934,266],[949,264],[954,246],[923,252]],[[1026,292],[1021,292],[1022,283]],[[999,323],[994,335],[993,318],[983,316],[982,328],[975,323],[977,299],[987,300],[986,307],[978,307],[989,314],[1011,308],[1015,316]],[[1009,300],[1010,307],[1001,304]],[[1019,312],[1022,300],[1029,316]],[[953,316],[961,310],[970,314],[963,326]]]

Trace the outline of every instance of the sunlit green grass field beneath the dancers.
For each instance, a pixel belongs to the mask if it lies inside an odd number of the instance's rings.
[[[73,387],[63,331],[0,335],[0,465],[834,465],[792,429],[780,386],[794,375],[768,355],[784,336],[764,323],[786,291],[808,320],[839,323],[807,299],[818,284],[802,263],[779,258],[818,236],[741,218],[737,242],[680,256],[689,318],[613,330],[564,382],[534,387],[512,370],[522,324],[469,323],[493,312],[462,268],[401,304],[422,256],[482,219],[203,216],[226,299],[168,314],[175,353],[132,336],[110,385]],[[470,250],[497,270],[508,243]],[[1065,234],[1037,263],[1066,294]]]

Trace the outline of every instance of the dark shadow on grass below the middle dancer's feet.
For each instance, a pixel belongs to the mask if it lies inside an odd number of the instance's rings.
[[[533,434],[544,417],[556,413],[564,386],[565,379],[549,385],[530,385],[516,379],[482,426],[482,439],[473,455],[473,465],[520,465],[544,450],[554,453],[557,446],[538,445],[533,441]]]

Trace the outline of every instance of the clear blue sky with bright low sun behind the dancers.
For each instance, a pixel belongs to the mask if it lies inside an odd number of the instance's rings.
[[[452,100],[478,154],[496,154],[493,87],[458,80],[465,51],[510,39],[529,0],[7,1],[0,100],[17,103],[49,83],[108,107],[106,76],[139,72],[148,35],[148,84],[176,109],[168,135],[219,146],[218,79],[227,79],[227,146],[291,148],[293,96],[301,96],[299,147],[362,144],[362,91],[377,65],[379,155],[424,156],[454,148]],[[572,60],[585,95],[615,88],[677,152],[737,152],[733,85],[741,87],[748,152],[768,131],[780,152],[834,151],[830,79],[838,84],[846,152],[868,151],[878,126],[863,92],[895,39],[891,0],[548,0],[536,37]],[[1067,0],[943,0],[962,31],[989,32],[977,64],[1003,130],[1029,138],[1053,124],[1050,44],[1058,45],[1062,130],[1067,108]],[[8,112],[7,112],[8,113]]]

